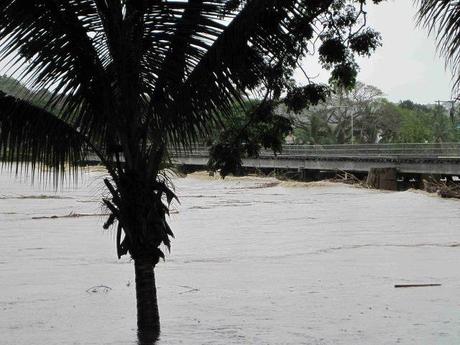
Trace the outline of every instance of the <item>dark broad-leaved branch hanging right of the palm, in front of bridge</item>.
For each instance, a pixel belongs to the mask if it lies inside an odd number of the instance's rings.
[[[358,6],[336,2],[310,24],[316,30],[305,53],[317,55],[322,66],[332,70],[329,84],[309,78],[298,61],[302,55],[286,59],[261,83],[261,98],[244,106],[235,104],[223,128],[204,140],[209,146],[208,170],[219,171],[222,177],[240,175],[243,159],[257,158],[262,148],[281,153],[286,136],[293,130],[294,114],[325,102],[330,94],[351,91],[358,73],[355,56],[369,56],[381,44],[380,34],[366,26],[363,2]],[[293,80],[296,67],[305,74],[307,85]]]

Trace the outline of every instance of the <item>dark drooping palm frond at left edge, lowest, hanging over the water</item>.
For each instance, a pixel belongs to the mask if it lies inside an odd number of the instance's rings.
[[[85,139],[55,114],[0,91],[0,160],[33,174],[51,169],[54,183],[66,167],[75,172],[85,157]]]

